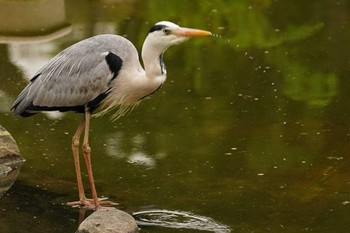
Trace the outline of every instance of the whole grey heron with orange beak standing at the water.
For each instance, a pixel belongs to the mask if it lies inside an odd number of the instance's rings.
[[[91,168],[89,127],[92,114],[102,115],[114,108],[115,118],[144,97],[156,92],[166,79],[165,50],[191,37],[211,32],[180,27],[169,21],[156,23],[143,46],[142,68],[135,46],[118,35],[97,35],[64,49],[43,66],[11,106],[14,115],[32,116],[41,111],[83,113],[72,139],[80,205],[96,209],[114,203],[99,199]],[[85,129],[85,131],[84,131]],[[84,131],[82,151],[87,167],[92,199],[85,196],[79,163],[79,143]]]

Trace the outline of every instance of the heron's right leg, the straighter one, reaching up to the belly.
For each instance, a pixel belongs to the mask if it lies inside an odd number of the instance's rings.
[[[90,118],[91,118],[91,113],[86,110],[85,111],[85,132],[84,132],[84,141],[83,141],[83,152],[84,152],[84,157],[85,157],[85,162],[86,162],[86,168],[89,176],[89,182],[90,182],[90,187],[91,187],[91,195],[92,199],[95,204],[95,208],[99,208],[99,200],[97,197],[97,192],[95,188],[95,181],[94,181],[94,176],[92,173],[92,167],[91,167],[91,148],[89,145],[89,130],[90,130]]]

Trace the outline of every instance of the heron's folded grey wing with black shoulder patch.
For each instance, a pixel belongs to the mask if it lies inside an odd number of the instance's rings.
[[[89,41],[59,53],[31,79],[11,109],[29,116],[37,111],[84,111],[95,108],[108,95],[109,84],[122,67],[122,59]]]

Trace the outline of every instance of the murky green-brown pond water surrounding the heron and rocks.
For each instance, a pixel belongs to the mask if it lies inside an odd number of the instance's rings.
[[[13,117],[31,76],[95,34],[139,50],[161,20],[216,36],[169,49],[167,82],[129,115],[92,120],[99,195],[232,232],[349,231],[348,1],[1,1],[0,17],[0,124],[26,159],[0,198],[0,232],[75,232],[79,222],[61,203],[77,199],[70,142],[82,116]],[[215,230],[141,226],[203,231]]]

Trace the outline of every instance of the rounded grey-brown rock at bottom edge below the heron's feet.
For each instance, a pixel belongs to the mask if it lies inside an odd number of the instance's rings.
[[[128,213],[113,207],[103,207],[92,213],[76,233],[137,233],[139,228]]]

